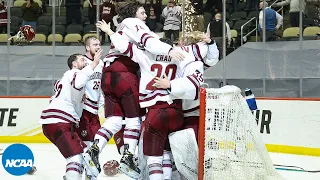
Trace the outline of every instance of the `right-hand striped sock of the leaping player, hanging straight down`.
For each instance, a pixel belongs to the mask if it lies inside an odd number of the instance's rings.
[[[126,127],[124,129],[123,141],[124,144],[129,144],[129,151],[135,154],[137,143],[140,135],[140,119],[136,118],[125,118]]]

